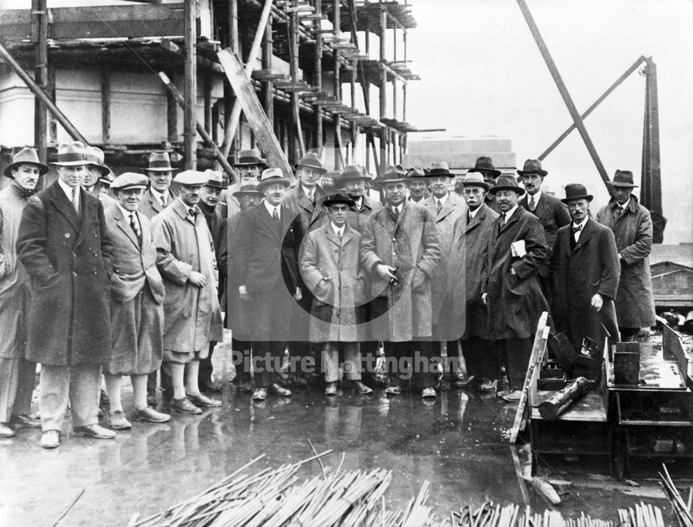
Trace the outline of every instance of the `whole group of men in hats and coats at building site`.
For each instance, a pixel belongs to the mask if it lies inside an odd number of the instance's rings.
[[[595,220],[583,185],[566,186],[565,199],[541,190],[537,160],[518,178],[488,157],[464,176],[444,161],[378,178],[347,166],[329,195],[312,152],[290,179],[242,151],[232,186],[213,170],[173,177],[166,152],[115,178],[103,152],[79,142],[52,164],[58,179],[38,193],[49,167],[35,150],[3,172],[0,437],[42,427],[41,445],[57,447],[69,407],[74,434],[113,438],[132,426],[124,375],[132,420],[218,407],[205,393],[221,390],[211,353],[224,326],[234,381],[257,401],[308,382],[328,396],[371,393],[380,343],[388,395],[413,388],[431,400],[451,380],[515,401],[541,312],[576,347],[655,322],[652,224],[628,171]],[[102,374],[109,429],[98,424]]]

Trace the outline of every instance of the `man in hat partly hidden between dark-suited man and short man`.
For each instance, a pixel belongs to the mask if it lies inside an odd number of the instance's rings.
[[[322,200],[326,193],[317,184],[318,179],[327,172],[322,166],[322,162],[317,154],[308,152],[296,165],[297,184],[286,191],[283,204],[295,215],[299,225],[293,229],[295,238],[295,259],[299,260],[299,249],[303,242],[303,237],[312,229],[316,229],[324,221],[326,211]],[[308,343],[308,323],[310,321],[310,307],[313,304],[313,295],[301,283],[299,276],[299,287],[301,287],[300,310],[295,310],[291,322],[293,339],[288,342],[289,355],[294,361],[299,361],[303,357],[310,356],[310,343]],[[318,362],[319,359],[316,361]],[[307,380],[304,372],[294,372],[293,384],[295,386],[306,386]]]

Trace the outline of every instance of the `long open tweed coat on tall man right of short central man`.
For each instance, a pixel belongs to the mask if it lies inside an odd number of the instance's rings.
[[[360,258],[371,274],[371,339],[405,342],[430,337],[430,278],[440,262],[432,213],[405,200],[397,220],[389,207],[371,214],[361,235]],[[396,267],[396,284],[373,273],[380,262]],[[414,271],[426,276],[416,290],[412,289]]]

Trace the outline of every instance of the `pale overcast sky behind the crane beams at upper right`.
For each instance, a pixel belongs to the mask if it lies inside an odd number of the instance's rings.
[[[514,0],[414,0],[407,35],[407,122],[440,137],[511,139],[518,164],[536,158],[572,123]],[[665,243],[693,241],[693,2],[527,0],[579,112],[640,57],[657,65]],[[645,79],[631,74],[585,120],[609,177],[640,179]],[[432,134],[410,134],[410,141]],[[577,131],[543,161],[548,190],[581,182],[608,195]],[[637,195],[638,189],[635,189]]]

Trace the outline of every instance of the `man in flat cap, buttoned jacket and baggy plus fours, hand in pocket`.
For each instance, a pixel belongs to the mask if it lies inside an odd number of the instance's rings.
[[[123,413],[123,375],[132,382],[132,420],[166,422],[170,416],[147,403],[147,376],[161,367],[164,331],[164,283],[149,220],[137,212],[148,186],[146,175],[125,172],[111,188],[116,204],[105,211],[107,235],[113,243],[111,278],[112,353],[104,366],[114,430],[132,428]]]

